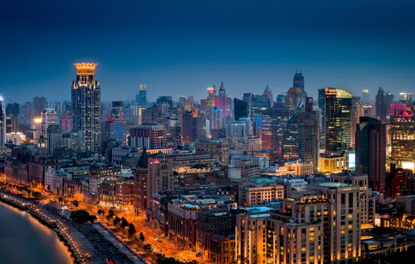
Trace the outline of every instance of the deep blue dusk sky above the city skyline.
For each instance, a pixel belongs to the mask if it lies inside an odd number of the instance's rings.
[[[332,86],[374,98],[379,85],[415,92],[415,1],[4,1],[0,93],[70,99],[75,62],[95,62],[104,101],[233,97]]]

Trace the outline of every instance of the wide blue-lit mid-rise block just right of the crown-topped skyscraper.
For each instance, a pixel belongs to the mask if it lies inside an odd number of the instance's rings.
[[[121,146],[127,145],[127,124],[123,119],[110,117],[101,123],[101,144],[107,140],[116,140]]]

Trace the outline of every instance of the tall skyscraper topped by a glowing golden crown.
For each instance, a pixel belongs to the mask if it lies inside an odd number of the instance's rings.
[[[72,82],[72,129],[84,131],[86,152],[100,147],[101,87],[95,80],[95,63],[75,63]]]

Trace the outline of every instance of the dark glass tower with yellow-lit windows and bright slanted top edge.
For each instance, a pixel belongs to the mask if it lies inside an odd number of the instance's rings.
[[[328,154],[340,153],[352,145],[351,92],[324,88],[324,141]]]

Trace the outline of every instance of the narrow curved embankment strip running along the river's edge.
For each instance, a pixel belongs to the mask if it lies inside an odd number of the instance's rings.
[[[43,224],[48,229],[54,231],[58,236],[59,240],[63,243],[63,245],[65,245],[68,251],[70,251],[70,257],[72,258],[73,263],[84,263],[84,261],[81,258],[77,258],[77,255],[75,254],[75,249],[71,247],[70,242],[65,238],[65,236],[63,236],[63,234],[58,229],[54,228],[54,226],[52,226],[51,223],[43,220],[42,217],[40,217],[40,215],[33,213],[33,211],[29,210],[26,206],[21,206],[19,204],[14,203],[13,201],[5,199],[2,195],[0,195],[0,202],[3,204],[7,204],[8,206],[12,206],[13,208],[16,208],[19,211],[29,213],[29,215],[36,219],[40,224]]]

